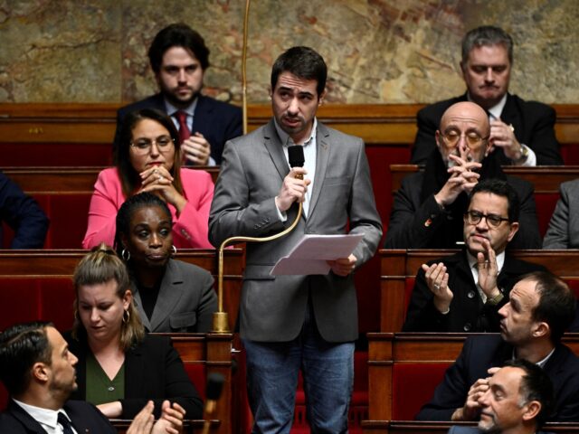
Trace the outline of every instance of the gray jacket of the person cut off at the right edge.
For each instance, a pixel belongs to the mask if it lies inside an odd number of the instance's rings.
[[[579,249],[579,179],[561,184],[559,192],[543,249]]]

